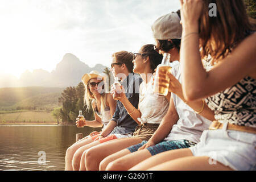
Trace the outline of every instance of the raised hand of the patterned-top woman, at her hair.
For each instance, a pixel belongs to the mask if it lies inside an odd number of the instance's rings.
[[[183,29],[186,27],[199,27],[199,18],[203,10],[203,0],[180,0],[180,14]],[[196,30],[193,30],[196,31]],[[188,34],[189,32],[187,32]]]

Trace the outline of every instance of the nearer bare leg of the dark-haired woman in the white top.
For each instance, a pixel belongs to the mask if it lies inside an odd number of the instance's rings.
[[[106,158],[106,156],[141,142],[142,140],[139,138],[121,138],[92,147],[86,151],[85,167],[87,170],[96,171],[99,169],[101,160]]]

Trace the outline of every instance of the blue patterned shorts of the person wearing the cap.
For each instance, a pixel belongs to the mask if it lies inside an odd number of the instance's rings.
[[[134,146],[130,146],[127,149],[130,152],[135,152],[139,149],[139,147],[143,146],[143,144],[145,143],[147,143],[147,141],[143,141],[142,143],[135,144]],[[150,152],[151,155],[156,155],[168,150],[175,150],[179,148],[189,148],[195,144],[196,143],[191,142],[189,140],[170,140],[170,141],[160,142],[155,146],[151,146],[146,149]]]

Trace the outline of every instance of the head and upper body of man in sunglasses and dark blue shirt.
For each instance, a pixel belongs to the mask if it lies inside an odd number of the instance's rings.
[[[138,108],[139,85],[142,82],[142,78],[133,73],[133,56],[133,53],[127,51],[113,53],[110,70],[114,77],[121,80],[128,100],[135,108]],[[112,119],[108,126],[102,130],[101,136],[97,140],[102,143],[115,138],[130,137],[137,126],[137,122],[130,117],[122,102],[118,100]]]

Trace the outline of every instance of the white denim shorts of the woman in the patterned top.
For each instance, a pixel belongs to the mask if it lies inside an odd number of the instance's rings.
[[[256,135],[226,130],[205,130],[200,142],[190,147],[194,156],[208,156],[209,164],[220,162],[234,170],[256,170]],[[215,163],[214,163],[215,162]]]

